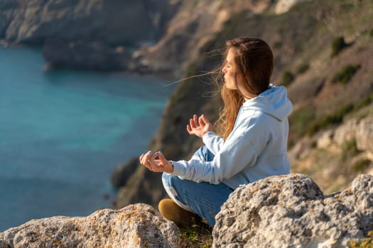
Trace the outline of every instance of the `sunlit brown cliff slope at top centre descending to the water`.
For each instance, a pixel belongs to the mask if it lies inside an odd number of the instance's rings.
[[[190,62],[197,60],[201,48],[222,29],[235,13],[263,13],[272,1],[181,1],[178,12],[168,24],[161,40],[151,47],[143,47],[134,54],[134,71],[171,74],[185,73]]]

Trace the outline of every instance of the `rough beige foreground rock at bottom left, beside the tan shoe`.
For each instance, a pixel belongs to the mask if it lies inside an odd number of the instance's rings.
[[[146,204],[85,218],[31,220],[0,233],[0,247],[175,247],[178,227]]]

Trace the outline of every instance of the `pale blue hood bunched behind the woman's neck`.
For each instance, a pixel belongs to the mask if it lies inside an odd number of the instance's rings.
[[[259,96],[245,101],[243,110],[245,109],[261,111],[283,121],[293,110],[293,104],[291,104],[284,86],[270,84],[269,89]]]

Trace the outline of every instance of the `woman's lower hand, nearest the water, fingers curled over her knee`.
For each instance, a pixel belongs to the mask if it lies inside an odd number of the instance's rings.
[[[148,151],[145,154],[141,154],[139,157],[140,163],[150,171],[154,172],[173,172],[173,164],[169,162],[162,154],[162,152],[151,152]]]

